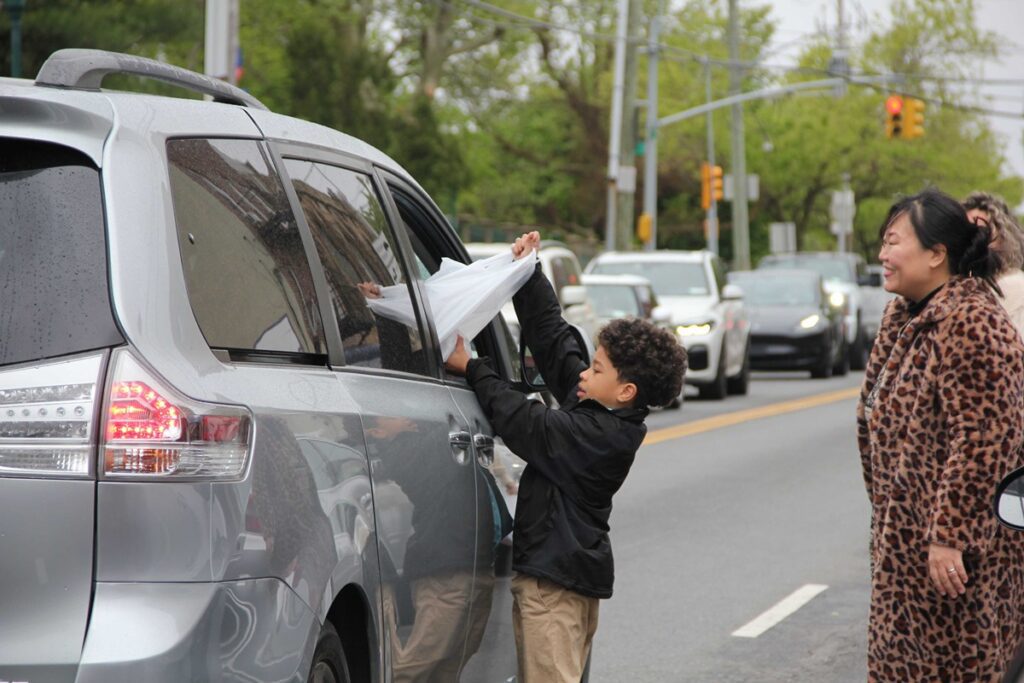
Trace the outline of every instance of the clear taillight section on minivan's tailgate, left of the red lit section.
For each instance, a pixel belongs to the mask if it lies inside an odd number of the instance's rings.
[[[0,476],[92,474],[102,353],[0,368]]]

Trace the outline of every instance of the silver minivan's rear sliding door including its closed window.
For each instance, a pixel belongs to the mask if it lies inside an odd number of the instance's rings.
[[[332,296],[343,390],[362,416],[391,680],[455,680],[476,552],[472,434],[439,376],[409,261],[375,174],[359,160],[285,150]],[[404,296],[411,318],[371,306]]]

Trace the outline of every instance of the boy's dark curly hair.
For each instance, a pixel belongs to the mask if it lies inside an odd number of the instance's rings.
[[[665,328],[624,317],[604,326],[598,343],[618,379],[637,386],[636,408],[668,405],[682,391],[686,350]]]

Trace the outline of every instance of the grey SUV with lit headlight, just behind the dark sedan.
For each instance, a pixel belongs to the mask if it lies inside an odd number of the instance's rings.
[[[860,290],[867,284],[864,259],[859,254],[840,252],[800,252],[765,256],[758,268],[799,268],[814,270],[825,281],[825,288],[837,306],[845,308],[846,341],[850,349],[850,368],[867,367],[870,348],[868,315],[864,311],[864,297]]]

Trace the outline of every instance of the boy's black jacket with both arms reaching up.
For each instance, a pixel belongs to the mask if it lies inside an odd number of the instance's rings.
[[[485,358],[467,378],[495,431],[527,467],[519,481],[512,566],[595,598],[611,597],[611,497],[646,434],[646,410],[609,411],[580,401],[587,369],[575,337],[540,267],[514,298],[522,334],[561,408],[512,389]]]

